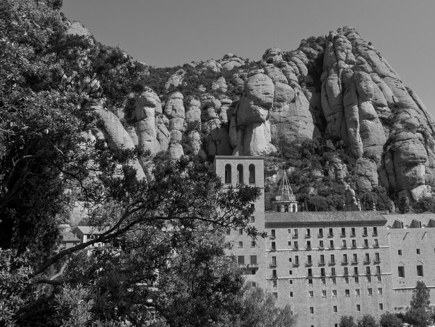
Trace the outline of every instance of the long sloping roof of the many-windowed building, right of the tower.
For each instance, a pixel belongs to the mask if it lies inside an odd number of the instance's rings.
[[[379,212],[266,212],[265,228],[287,225],[384,225]]]

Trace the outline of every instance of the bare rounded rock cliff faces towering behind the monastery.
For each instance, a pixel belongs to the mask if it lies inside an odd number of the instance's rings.
[[[289,147],[329,140],[344,143],[352,160],[330,156],[316,170],[318,180],[351,182],[360,194],[380,185],[395,199],[432,194],[434,120],[352,27],[302,40],[294,51],[267,49],[259,61],[226,54],[182,67],[144,67],[145,91],[131,94],[124,107],[106,108],[114,114],[103,118],[105,133],[115,144],[173,159],[275,157],[268,167],[273,180]]]

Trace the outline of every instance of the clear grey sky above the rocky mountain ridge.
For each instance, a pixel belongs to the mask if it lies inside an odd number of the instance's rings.
[[[258,60],[353,26],[435,116],[435,0],[63,0],[62,11],[158,67],[227,53]]]

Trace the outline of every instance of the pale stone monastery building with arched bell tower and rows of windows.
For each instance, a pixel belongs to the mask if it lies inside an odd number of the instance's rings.
[[[268,237],[252,244],[231,230],[228,255],[247,282],[290,304],[298,326],[336,327],[343,315],[379,319],[406,310],[418,280],[435,288],[435,214],[265,212],[262,157],[216,156],[215,172],[228,186],[261,189],[252,224]]]

